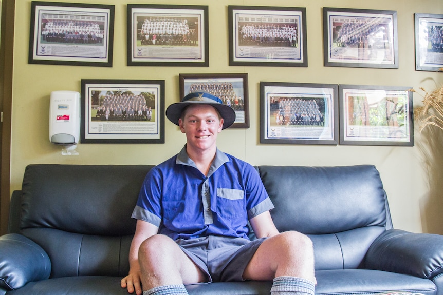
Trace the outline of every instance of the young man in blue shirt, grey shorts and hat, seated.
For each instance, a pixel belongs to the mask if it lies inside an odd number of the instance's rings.
[[[279,233],[259,174],[216,147],[235,112],[216,96],[193,92],[166,115],[187,143],[146,175],[132,215],[137,227],[122,288],[137,295],[187,294],[186,284],[273,280],[272,295],[312,295],[310,239]]]

